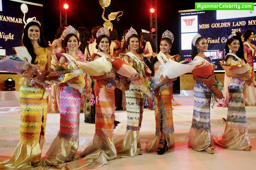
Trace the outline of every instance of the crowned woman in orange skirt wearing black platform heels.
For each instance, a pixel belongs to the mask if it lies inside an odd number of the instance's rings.
[[[160,51],[164,53],[166,60],[174,60],[174,56],[169,55],[173,41],[174,35],[166,30],[160,41]],[[159,55],[153,59],[153,76],[155,72],[158,71],[159,66],[162,63],[164,64],[162,61],[163,59]],[[160,81],[164,82],[164,84],[155,90],[156,135],[154,140],[146,145],[146,149],[149,152],[151,150],[157,150],[158,154],[164,154],[166,149],[168,150],[169,147],[174,145],[174,127],[172,120],[172,81],[174,80],[177,80],[177,78],[169,80],[167,76],[164,78],[163,75],[161,75]]]

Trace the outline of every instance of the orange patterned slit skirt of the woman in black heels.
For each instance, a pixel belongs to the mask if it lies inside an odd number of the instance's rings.
[[[160,141],[159,133],[162,130],[167,142],[168,148],[174,145],[174,127],[172,119],[172,84],[160,86],[155,90],[155,118],[156,135],[154,140],[146,145],[146,149],[154,151],[158,149]]]

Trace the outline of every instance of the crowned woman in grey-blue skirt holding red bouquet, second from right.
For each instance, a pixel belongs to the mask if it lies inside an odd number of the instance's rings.
[[[208,70],[213,73],[214,66],[210,57],[206,57],[204,52],[208,49],[208,42],[206,38],[200,34],[196,34],[192,39],[192,60],[199,60],[209,64]],[[210,101],[211,91],[210,87],[205,83],[215,82],[215,76],[209,76],[204,78],[203,74],[206,71],[200,71],[202,77],[195,75],[193,72],[193,78],[196,80],[194,86],[194,111],[192,126],[189,131],[188,145],[192,149],[201,151],[206,150],[209,154],[214,154],[214,143],[211,140],[211,125],[210,125]]]

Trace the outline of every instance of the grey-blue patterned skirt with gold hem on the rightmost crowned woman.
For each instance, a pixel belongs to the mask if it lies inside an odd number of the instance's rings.
[[[244,104],[244,81],[232,78],[229,83],[229,103],[224,133],[214,137],[214,143],[226,149],[241,150],[250,145]]]

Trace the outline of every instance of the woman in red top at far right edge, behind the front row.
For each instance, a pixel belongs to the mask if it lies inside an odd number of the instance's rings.
[[[254,86],[256,85],[255,82],[255,74],[254,74],[254,66],[253,66],[253,59],[256,53],[256,46],[251,43],[254,39],[255,31],[247,30],[244,33],[244,59],[246,59],[247,63],[252,67],[252,71],[250,72],[250,79],[252,83],[245,84],[245,105],[246,106],[256,106],[256,91]]]

